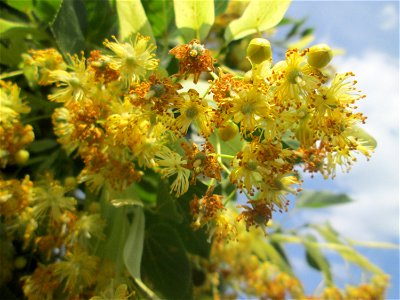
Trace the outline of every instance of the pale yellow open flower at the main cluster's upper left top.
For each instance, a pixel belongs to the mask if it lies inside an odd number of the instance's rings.
[[[123,44],[113,38],[115,43],[108,40],[104,42],[104,45],[115,54],[109,58],[108,63],[111,69],[121,73],[126,85],[140,81],[146,76],[147,71],[157,68],[158,60],[152,53],[157,47],[149,44],[149,37],[138,34],[133,43]]]

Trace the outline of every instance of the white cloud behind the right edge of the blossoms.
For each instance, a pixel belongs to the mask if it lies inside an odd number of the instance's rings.
[[[354,203],[311,216],[329,221],[344,236],[357,240],[389,241],[399,237],[399,67],[379,52],[335,61],[339,72],[356,73],[358,87],[367,95],[359,111],[368,116],[363,126],[378,141],[370,161],[360,157],[349,174],[338,173],[333,184]],[[361,103],[362,102],[362,103]]]

